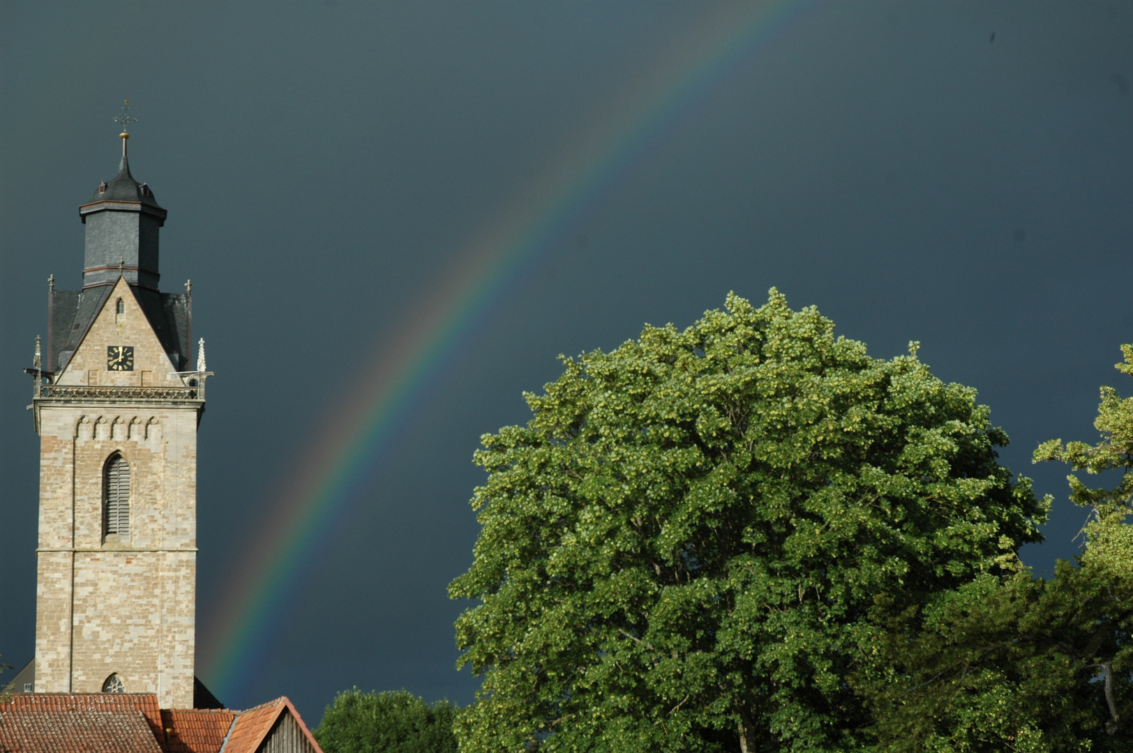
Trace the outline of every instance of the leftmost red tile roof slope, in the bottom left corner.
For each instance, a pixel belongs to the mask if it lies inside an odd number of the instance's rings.
[[[2,711],[0,750],[11,753],[161,753],[139,711]]]

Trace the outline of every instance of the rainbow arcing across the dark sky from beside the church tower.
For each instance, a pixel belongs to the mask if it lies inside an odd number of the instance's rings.
[[[391,438],[414,414],[486,310],[545,257],[565,225],[594,206],[610,185],[671,129],[682,113],[740,63],[800,17],[804,0],[751,0],[712,6],[678,49],[645,80],[603,109],[603,117],[528,188],[483,225],[460,262],[385,343],[368,375],[310,445],[282,485],[273,515],[244,555],[201,631],[201,674],[235,702],[263,659],[281,621],[289,585],[337,520],[358,481],[373,473]],[[207,640],[211,639],[211,640]]]

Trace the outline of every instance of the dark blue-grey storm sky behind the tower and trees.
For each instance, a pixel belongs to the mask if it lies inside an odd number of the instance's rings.
[[[469,239],[682,49],[701,2],[0,2],[0,654],[34,651],[46,277],[76,289],[77,206],[118,163],[169,209],[162,286],[208,343],[201,631],[240,545],[359,367]],[[1133,3],[806,2],[614,176],[428,387],[393,457],[293,583],[242,708],[308,721],[339,690],[467,703],[453,662],[480,434],[557,353],[690,324],[777,285],[878,357],[910,340],[974,386],[1014,470],[1056,496],[1037,568],[1084,515],[1036,444],[1092,440],[1133,341]],[[991,41],[993,32],[995,33]],[[391,354],[391,358],[395,354]],[[210,677],[204,674],[207,684]]]

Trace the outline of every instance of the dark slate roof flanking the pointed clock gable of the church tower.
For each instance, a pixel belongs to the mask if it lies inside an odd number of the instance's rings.
[[[94,318],[102,310],[113,285],[85,290],[53,290],[48,298],[48,359],[44,367],[58,374],[78,350]],[[189,293],[162,293],[130,285],[138,306],[167,353],[177,353],[173,366],[188,370],[193,353],[193,303]]]

